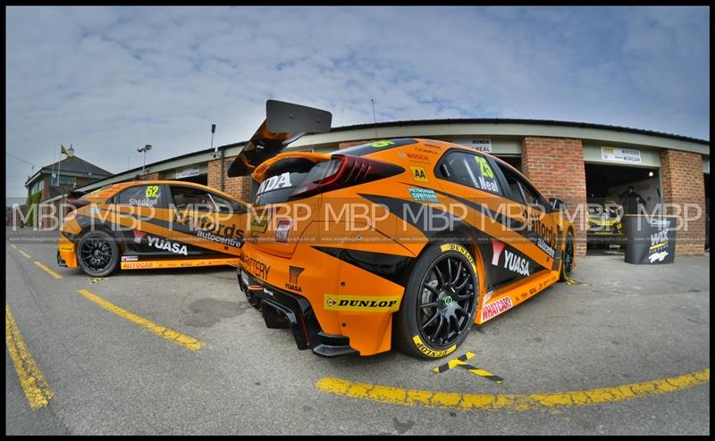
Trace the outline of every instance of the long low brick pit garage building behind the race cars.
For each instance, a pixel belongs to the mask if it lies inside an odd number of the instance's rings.
[[[710,141],[642,129],[568,121],[506,119],[425,120],[363,124],[307,135],[286,151],[331,152],[374,140],[425,137],[450,141],[493,154],[531,179],[548,197],[568,207],[616,199],[628,186],[655,204],[689,204],[696,220],[677,232],[676,255],[702,254],[710,213]],[[250,200],[249,178],[228,178],[226,171],[244,142],[185,154],[102,179],[93,190],[133,179],[178,179],[222,189]],[[672,213],[672,212],[670,212]],[[584,211],[575,225],[587,225]],[[585,255],[585,229],[576,229],[576,253]]]

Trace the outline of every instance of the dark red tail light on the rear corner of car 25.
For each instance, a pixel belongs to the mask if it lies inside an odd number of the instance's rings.
[[[338,188],[365,184],[377,179],[389,178],[403,173],[405,169],[388,162],[348,154],[334,154],[325,166],[322,178],[303,182],[291,199],[307,197]]]

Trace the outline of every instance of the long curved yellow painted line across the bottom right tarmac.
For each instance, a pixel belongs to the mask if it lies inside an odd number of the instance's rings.
[[[459,394],[457,392],[433,392],[356,383],[347,379],[334,379],[330,377],[319,379],[315,383],[315,387],[331,394],[386,404],[400,404],[403,406],[457,409],[461,411],[534,411],[539,409],[607,404],[633,400],[649,395],[668,394],[709,382],[710,368],[671,377],[669,379],[652,379],[642,383],[632,383],[616,387],[573,390],[553,394]]]

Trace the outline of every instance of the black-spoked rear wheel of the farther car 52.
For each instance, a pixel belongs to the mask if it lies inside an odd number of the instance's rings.
[[[105,231],[89,231],[77,245],[77,263],[88,275],[105,277],[117,268],[119,247],[114,237]]]

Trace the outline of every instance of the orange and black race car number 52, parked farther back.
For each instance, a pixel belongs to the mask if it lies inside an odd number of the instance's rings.
[[[65,215],[57,263],[103,277],[144,270],[238,266],[247,205],[190,182],[124,182],[80,196]]]

